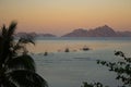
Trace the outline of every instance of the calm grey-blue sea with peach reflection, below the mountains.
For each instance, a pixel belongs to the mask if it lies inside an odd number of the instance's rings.
[[[91,48],[82,51],[83,47]],[[81,87],[82,82],[102,82],[116,87],[115,73],[96,64],[96,60],[121,60],[114,55],[122,50],[131,55],[131,38],[37,38],[36,46],[28,46],[37,64],[37,72],[49,87]],[[69,48],[70,52],[64,52]],[[49,54],[44,55],[47,51]]]

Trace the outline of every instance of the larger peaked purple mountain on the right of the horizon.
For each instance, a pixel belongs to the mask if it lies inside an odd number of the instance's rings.
[[[131,37],[131,32],[115,32],[111,27],[104,25],[94,29],[74,29],[62,37]]]

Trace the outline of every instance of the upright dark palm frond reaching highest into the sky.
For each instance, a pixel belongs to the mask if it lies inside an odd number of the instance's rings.
[[[13,42],[12,34],[14,33],[14,29],[16,27],[16,23],[12,22],[9,28],[5,27],[5,25],[2,26],[2,34],[0,39],[0,57],[1,61],[4,63],[8,59],[11,58],[11,47]]]

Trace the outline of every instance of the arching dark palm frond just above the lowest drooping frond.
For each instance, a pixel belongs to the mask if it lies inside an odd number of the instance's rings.
[[[35,72],[35,62],[32,57],[27,54],[10,59],[5,65],[9,70],[24,69]]]

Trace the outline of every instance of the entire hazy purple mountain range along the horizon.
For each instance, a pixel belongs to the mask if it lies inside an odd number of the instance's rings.
[[[17,33],[15,36],[21,37],[25,36],[26,34],[27,33]],[[28,34],[34,37],[58,37],[53,34],[37,34],[35,32]],[[84,28],[74,29],[73,32],[64,34],[60,37],[131,37],[131,32],[117,32],[108,25],[104,25],[88,30]]]

